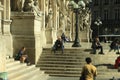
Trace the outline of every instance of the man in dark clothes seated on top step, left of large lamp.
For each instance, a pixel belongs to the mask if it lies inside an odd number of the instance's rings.
[[[63,51],[64,51],[64,45],[63,45],[63,41],[62,41],[61,37],[58,37],[57,40],[55,41],[55,44],[53,46],[54,53],[58,49],[61,49],[62,53],[63,53]]]

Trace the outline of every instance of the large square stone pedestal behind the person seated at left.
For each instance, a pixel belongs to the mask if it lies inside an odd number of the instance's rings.
[[[45,37],[41,35],[44,32],[41,31],[42,18],[29,12],[13,12],[11,18],[14,54],[25,46],[31,63],[36,63],[42,52],[42,43],[45,43]]]

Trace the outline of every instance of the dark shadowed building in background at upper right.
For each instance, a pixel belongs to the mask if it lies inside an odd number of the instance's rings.
[[[99,35],[120,34],[120,0],[92,0],[93,31]],[[95,21],[100,18],[102,24],[97,26]],[[98,31],[99,30],[99,31]]]

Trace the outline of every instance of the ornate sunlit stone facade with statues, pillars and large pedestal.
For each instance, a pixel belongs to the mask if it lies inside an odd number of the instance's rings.
[[[3,52],[0,56],[4,55],[3,61],[25,46],[31,62],[36,63],[42,47],[53,44],[63,32],[74,40],[75,18],[68,3],[69,0],[0,0],[0,44],[4,45],[0,47]],[[88,18],[85,18],[87,28]],[[5,67],[5,62],[0,64]]]

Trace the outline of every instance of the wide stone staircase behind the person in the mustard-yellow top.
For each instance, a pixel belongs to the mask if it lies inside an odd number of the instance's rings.
[[[91,57],[93,64],[97,67],[98,76],[96,80],[109,80],[113,76],[120,78],[120,73],[113,68],[117,54],[90,54],[86,48],[65,48],[64,54],[57,51],[51,52],[51,48],[44,48],[39,58],[37,67],[50,76],[57,77],[79,77],[82,67],[85,64],[85,58]]]

